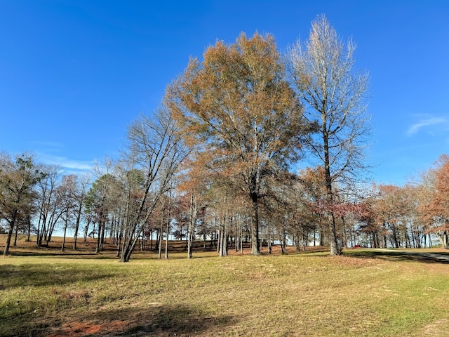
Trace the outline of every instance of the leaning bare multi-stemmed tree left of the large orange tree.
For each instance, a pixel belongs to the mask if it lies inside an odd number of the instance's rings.
[[[140,116],[128,128],[128,161],[134,169],[142,171],[144,180],[130,197],[128,204],[136,204],[128,212],[121,262],[128,262],[140,235],[152,216],[159,199],[170,190],[170,181],[186,151],[180,139],[177,124],[168,111],[161,107],[153,119]]]

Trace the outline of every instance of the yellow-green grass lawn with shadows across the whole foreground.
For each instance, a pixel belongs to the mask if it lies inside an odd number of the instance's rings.
[[[445,261],[354,249],[119,263],[68,247],[0,258],[0,336],[449,336]]]

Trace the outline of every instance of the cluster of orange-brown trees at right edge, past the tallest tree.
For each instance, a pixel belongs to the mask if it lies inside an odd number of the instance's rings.
[[[405,186],[374,185],[358,202],[358,230],[373,247],[422,248],[436,237],[448,249],[449,157]]]

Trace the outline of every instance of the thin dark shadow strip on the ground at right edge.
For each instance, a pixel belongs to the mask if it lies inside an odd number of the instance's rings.
[[[345,251],[344,255],[355,258],[381,258],[383,260],[449,264],[449,253],[399,251],[395,249],[357,249],[354,251]]]

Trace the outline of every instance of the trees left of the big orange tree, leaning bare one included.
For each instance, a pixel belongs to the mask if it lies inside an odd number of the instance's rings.
[[[97,252],[109,232],[121,261],[128,261],[156,208],[173,189],[173,176],[188,153],[175,122],[162,110],[153,120],[136,120],[128,140],[123,159],[98,166],[93,182],[88,176],[61,176],[58,167],[36,164],[27,154],[15,161],[0,157],[0,219],[8,231],[4,255],[13,232],[15,240],[18,232],[27,232],[28,239],[35,232],[36,244],[43,245],[59,226],[62,250],[68,228],[74,231],[73,249],[80,230],[85,240],[95,233]]]

